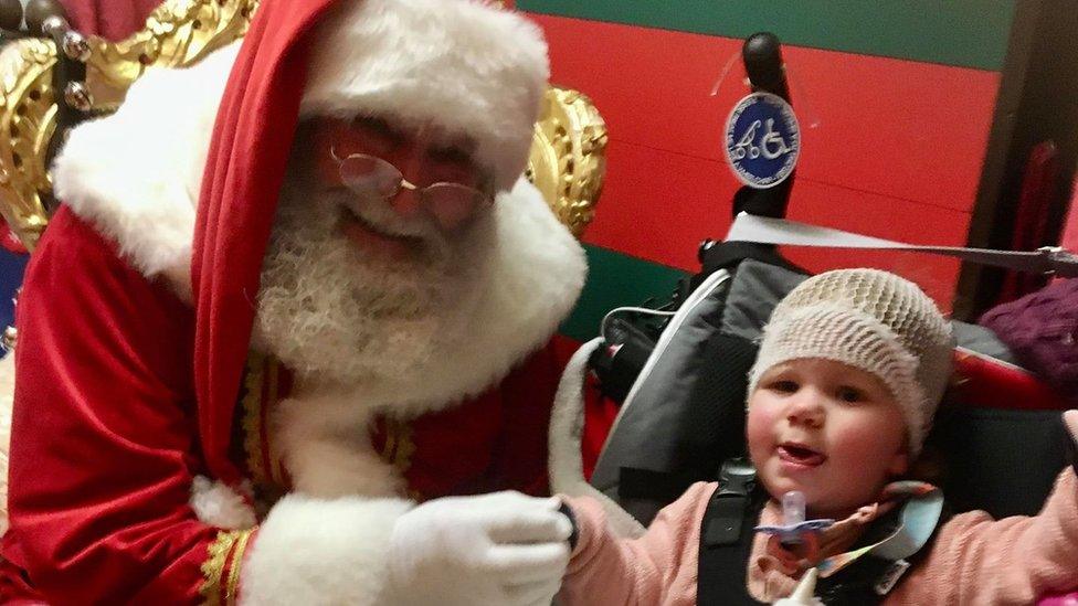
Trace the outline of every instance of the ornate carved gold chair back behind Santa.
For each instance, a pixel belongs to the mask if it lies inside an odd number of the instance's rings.
[[[56,205],[49,166],[66,131],[114,111],[146,70],[192,65],[242,36],[257,6],[258,0],[168,0],[141,31],[115,43],[83,36],[51,17],[41,26],[45,36],[0,49],[0,216],[28,249]],[[588,97],[551,87],[527,176],[578,237],[602,190],[605,146],[606,127]],[[13,330],[4,339],[13,345]],[[0,361],[0,534],[7,530],[12,359]]]

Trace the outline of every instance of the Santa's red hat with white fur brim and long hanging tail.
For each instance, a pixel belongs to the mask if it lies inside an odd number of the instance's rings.
[[[497,189],[520,177],[548,73],[538,29],[469,0],[264,0],[209,149],[191,266],[194,383],[210,471],[228,458],[258,278],[300,111],[468,135]]]

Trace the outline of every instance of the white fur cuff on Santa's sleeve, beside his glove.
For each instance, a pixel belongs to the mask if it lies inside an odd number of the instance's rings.
[[[379,603],[402,499],[290,495],[270,511],[241,576],[243,604]]]

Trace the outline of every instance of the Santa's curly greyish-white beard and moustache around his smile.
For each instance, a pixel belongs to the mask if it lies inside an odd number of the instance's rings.
[[[400,220],[384,202],[288,181],[262,269],[256,343],[308,384],[421,381],[467,338],[490,257],[492,230],[480,225],[489,217],[450,240],[425,219]],[[376,225],[423,236],[421,258],[364,255],[338,227],[346,203]]]

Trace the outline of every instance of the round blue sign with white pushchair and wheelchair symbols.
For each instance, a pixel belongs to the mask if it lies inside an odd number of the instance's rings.
[[[785,181],[801,153],[801,128],[793,108],[771,93],[752,93],[726,123],[726,158],[739,181],[757,189]]]

